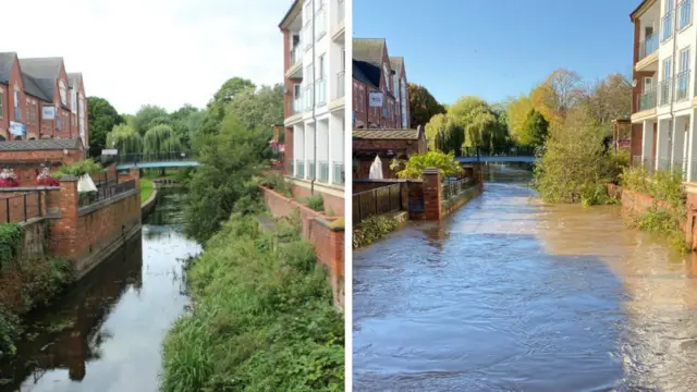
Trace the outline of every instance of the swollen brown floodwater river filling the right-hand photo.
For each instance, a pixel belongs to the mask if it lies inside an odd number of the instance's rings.
[[[354,252],[354,390],[693,391],[695,257],[516,175]]]

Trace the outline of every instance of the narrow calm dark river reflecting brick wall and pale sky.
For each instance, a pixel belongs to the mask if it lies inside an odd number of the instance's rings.
[[[139,236],[34,315],[0,391],[158,391],[162,340],[186,311],[183,260],[200,246],[182,234],[183,193],[163,188]]]

